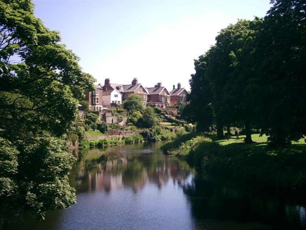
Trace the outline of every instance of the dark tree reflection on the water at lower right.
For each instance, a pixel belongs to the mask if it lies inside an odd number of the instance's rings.
[[[241,182],[231,183],[220,178],[208,180],[201,174],[196,174],[190,183],[183,185],[196,225],[205,229],[215,229],[214,224],[220,224],[220,221],[225,226],[229,221],[237,221],[304,229],[305,209],[290,204],[286,195],[270,190],[267,187],[247,186]],[[254,229],[254,225],[240,227]],[[226,228],[231,229],[228,226]],[[233,228],[237,229],[238,226],[233,225]],[[262,229],[263,226],[258,228]]]

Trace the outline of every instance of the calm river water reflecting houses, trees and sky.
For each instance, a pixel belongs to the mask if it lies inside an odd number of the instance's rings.
[[[155,145],[88,152],[71,172],[77,204],[9,229],[305,229],[306,209],[263,188],[209,180]]]

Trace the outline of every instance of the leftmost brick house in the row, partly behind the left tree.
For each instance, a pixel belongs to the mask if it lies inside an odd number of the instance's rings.
[[[101,111],[103,109],[103,88],[101,84],[95,85],[95,91],[85,90],[85,101],[88,101],[89,109]]]

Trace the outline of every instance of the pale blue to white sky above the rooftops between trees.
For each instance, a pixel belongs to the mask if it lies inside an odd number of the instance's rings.
[[[238,19],[264,17],[269,0],[102,1],[33,0],[35,16],[61,33],[97,83],[190,89],[194,59]]]

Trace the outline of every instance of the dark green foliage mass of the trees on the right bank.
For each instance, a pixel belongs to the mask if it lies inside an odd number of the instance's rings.
[[[306,134],[306,71],[303,1],[271,1],[264,19],[239,20],[222,29],[216,44],[195,60],[183,117],[198,131],[223,126],[260,129],[271,145],[285,146]]]

